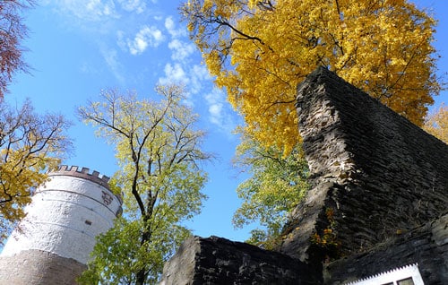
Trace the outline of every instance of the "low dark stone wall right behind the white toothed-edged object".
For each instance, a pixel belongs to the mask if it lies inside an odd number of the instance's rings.
[[[448,215],[427,222],[409,232],[401,232],[365,253],[325,265],[326,284],[346,284],[379,272],[418,263],[425,284],[448,284]]]

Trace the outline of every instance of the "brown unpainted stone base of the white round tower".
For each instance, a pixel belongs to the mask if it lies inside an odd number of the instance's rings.
[[[0,285],[57,284],[74,285],[87,266],[73,258],[41,250],[22,251],[0,258]]]

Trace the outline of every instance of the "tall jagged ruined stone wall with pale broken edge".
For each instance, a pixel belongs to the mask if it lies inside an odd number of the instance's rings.
[[[312,189],[297,205],[280,252],[320,263],[447,211],[444,142],[323,67],[298,86],[297,112]],[[338,248],[310,242],[324,229],[332,229]]]

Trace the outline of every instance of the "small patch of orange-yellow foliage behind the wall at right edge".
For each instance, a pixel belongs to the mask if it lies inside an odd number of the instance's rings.
[[[448,143],[448,107],[442,104],[430,113],[426,117],[423,129],[441,141]]]

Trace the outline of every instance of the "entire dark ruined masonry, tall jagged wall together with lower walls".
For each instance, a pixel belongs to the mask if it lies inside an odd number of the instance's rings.
[[[324,67],[297,112],[312,187],[277,252],[191,238],[162,284],[343,284],[409,263],[448,284],[448,145]]]

